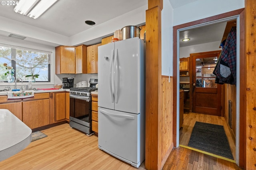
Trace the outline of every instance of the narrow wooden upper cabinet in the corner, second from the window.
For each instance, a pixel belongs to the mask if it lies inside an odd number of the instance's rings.
[[[87,47],[86,45],[76,46],[76,74],[87,73]]]

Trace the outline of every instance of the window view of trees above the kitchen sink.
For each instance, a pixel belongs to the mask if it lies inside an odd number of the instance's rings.
[[[50,55],[47,53],[0,46],[0,81],[7,82],[5,75],[7,70],[4,67],[4,63],[7,63],[8,66],[13,67],[15,78],[28,81],[36,75],[35,77],[38,77],[36,82],[50,82],[48,61],[50,61]]]

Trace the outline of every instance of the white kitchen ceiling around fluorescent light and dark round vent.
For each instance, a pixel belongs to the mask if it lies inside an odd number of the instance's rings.
[[[13,11],[14,6],[0,6],[0,16],[20,21],[65,36],[72,36],[100,23],[148,4],[148,0],[58,0],[42,16],[34,20]]]

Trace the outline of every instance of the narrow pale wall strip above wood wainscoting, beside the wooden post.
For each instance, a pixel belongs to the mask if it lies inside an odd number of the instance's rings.
[[[162,75],[173,76],[173,35],[172,35],[172,23],[173,23],[173,8],[169,0],[163,0],[162,10]]]

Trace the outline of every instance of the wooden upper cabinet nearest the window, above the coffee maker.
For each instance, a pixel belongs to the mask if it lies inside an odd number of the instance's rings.
[[[55,74],[75,74],[75,49],[72,46],[55,47]]]

